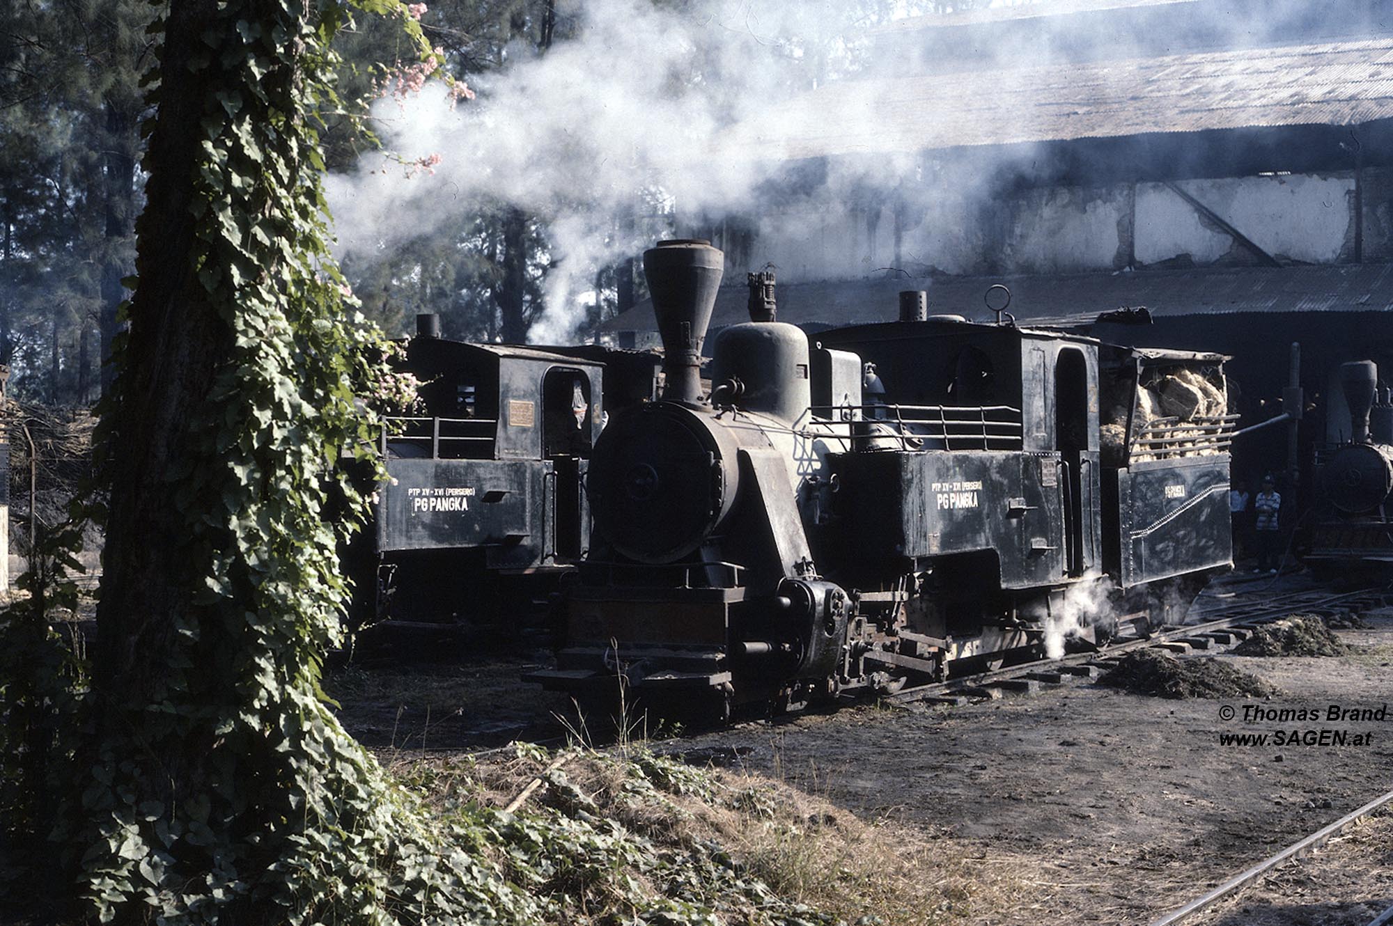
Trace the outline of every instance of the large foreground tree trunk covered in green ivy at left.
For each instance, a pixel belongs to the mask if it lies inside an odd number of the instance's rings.
[[[429,45],[397,0],[364,0]],[[379,336],[329,259],[316,113],[338,109],[332,0],[173,0],[138,284],[103,415],[109,480],[70,841],[103,920],[528,919],[450,849],[319,692],[376,422]]]

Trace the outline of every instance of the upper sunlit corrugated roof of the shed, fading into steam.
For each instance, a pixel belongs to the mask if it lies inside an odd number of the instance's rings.
[[[738,127],[755,159],[1393,117],[1393,38],[829,84]]]

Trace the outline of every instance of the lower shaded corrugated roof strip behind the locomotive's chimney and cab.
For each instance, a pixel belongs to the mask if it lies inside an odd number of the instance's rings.
[[[901,290],[928,290],[931,312],[995,317],[982,297],[993,283],[1011,290],[1010,312],[1034,324],[1092,322],[1121,306],[1156,316],[1230,312],[1393,312],[1393,265],[1205,267],[1137,273],[1017,277],[921,277],[779,284],[779,320],[795,324],[886,322]],[[722,287],[712,327],[748,322],[745,287]],[[652,304],[641,302],[602,331],[655,330]]]

